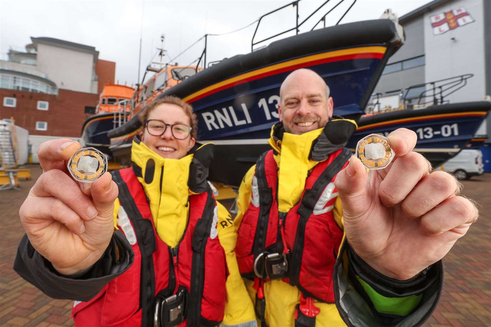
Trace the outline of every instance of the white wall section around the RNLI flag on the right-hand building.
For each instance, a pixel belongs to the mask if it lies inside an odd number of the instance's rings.
[[[433,35],[430,16],[465,7],[475,22]],[[455,40],[452,40],[454,38]],[[456,0],[424,14],[426,81],[474,74],[467,85],[445,100],[480,101],[485,97],[485,54],[483,1]]]

